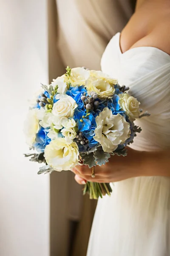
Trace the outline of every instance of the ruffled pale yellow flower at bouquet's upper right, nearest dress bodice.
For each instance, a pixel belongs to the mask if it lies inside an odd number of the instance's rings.
[[[102,73],[102,71],[90,71],[90,76],[85,82],[85,86],[90,94],[95,92],[100,98],[109,98],[115,92],[114,85],[117,84],[116,79]]]

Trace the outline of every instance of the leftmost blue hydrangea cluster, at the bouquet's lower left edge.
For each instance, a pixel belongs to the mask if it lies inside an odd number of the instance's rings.
[[[46,145],[48,145],[51,141],[51,139],[48,138],[47,134],[48,134],[48,129],[41,127],[36,135],[36,139],[35,139],[36,142],[34,143],[33,146],[40,153],[44,152]]]

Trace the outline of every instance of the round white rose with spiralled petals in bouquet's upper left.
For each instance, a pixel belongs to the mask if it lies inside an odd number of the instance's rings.
[[[75,100],[68,95],[59,99],[53,105],[52,114],[58,117],[72,117],[74,116],[74,110],[77,108],[77,103]]]

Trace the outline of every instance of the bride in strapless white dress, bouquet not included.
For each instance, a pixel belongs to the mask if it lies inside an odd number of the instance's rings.
[[[122,33],[102,56],[102,71],[141,102],[151,116],[127,157],[74,169],[78,183],[113,182],[98,201],[88,256],[170,256],[170,0],[139,0]]]

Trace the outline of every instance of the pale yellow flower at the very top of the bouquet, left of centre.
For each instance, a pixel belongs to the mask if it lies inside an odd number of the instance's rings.
[[[74,67],[71,69],[70,76],[65,76],[65,80],[71,83],[71,86],[85,85],[85,80],[88,79],[90,73],[83,67]]]

